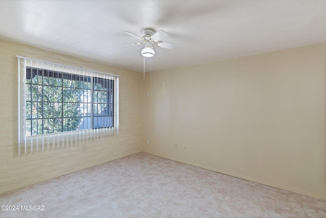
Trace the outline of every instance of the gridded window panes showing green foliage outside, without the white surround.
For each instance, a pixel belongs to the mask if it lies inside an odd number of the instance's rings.
[[[26,67],[26,135],[113,127],[114,81]]]

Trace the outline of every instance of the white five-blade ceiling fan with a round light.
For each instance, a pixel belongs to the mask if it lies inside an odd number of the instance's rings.
[[[162,42],[161,41],[161,39],[164,39],[169,36],[166,32],[164,32],[162,30],[154,33],[154,31],[152,29],[145,29],[143,31],[143,33],[144,33],[143,37],[139,37],[130,32],[124,32],[124,33],[128,34],[129,36],[135,37],[137,39],[143,40],[143,42],[124,44],[123,46],[135,45],[135,44],[145,44],[145,47],[142,50],[142,55],[144,57],[153,57],[154,56],[155,52],[153,49],[153,44],[155,44],[157,47],[162,47],[164,49],[173,49],[174,45],[175,45],[174,43],[171,43],[171,42]]]

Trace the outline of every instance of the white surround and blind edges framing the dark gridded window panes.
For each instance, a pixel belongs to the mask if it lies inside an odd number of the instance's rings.
[[[69,65],[63,65],[53,62],[46,62],[42,60],[26,58],[22,56],[16,56],[18,58],[18,146],[24,145],[25,153],[26,147],[31,145],[31,150],[33,150],[33,144],[39,143],[38,141],[42,140],[42,148],[44,145],[49,146],[50,143],[53,144],[66,144],[68,140],[73,140],[74,142],[79,140],[86,140],[86,138],[98,138],[102,136],[118,136],[119,133],[119,75],[108,74],[105,72],[100,72],[96,70],[90,70],[85,68],[79,68]],[[46,133],[46,134],[36,134],[36,135],[26,135],[26,67],[44,69],[48,71],[57,71],[63,74],[72,74],[72,75],[80,75],[85,77],[91,77],[91,99],[92,99],[92,116],[93,117],[93,80],[94,78],[99,79],[108,79],[113,80],[113,126],[112,127],[101,127],[101,128],[93,128],[93,124],[91,125],[91,129],[83,129],[83,130],[73,130],[73,131],[65,131],[65,132],[57,132],[57,133]],[[62,92],[63,94],[63,92]],[[63,96],[62,96],[63,97]],[[63,114],[62,114],[63,117]],[[109,131],[109,133],[105,132],[105,130]],[[104,134],[105,133],[105,134]],[[99,136],[100,135],[100,136]],[[82,139],[80,139],[82,138]],[[45,141],[45,143],[44,143]],[[74,143],[73,142],[73,143]],[[38,147],[38,146],[37,146]],[[19,149],[18,149],[19,150]],[[20,153],[20,152],[18,152]]]

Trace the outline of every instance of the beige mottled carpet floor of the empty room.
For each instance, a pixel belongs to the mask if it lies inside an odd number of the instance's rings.
[[[138,153],[0,195],[0,217],[326,217],[326,202]]]

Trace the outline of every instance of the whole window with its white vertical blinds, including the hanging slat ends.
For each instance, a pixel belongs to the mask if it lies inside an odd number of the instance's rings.
[[[18,155],[119,132],[119,76],[18,58]]]

